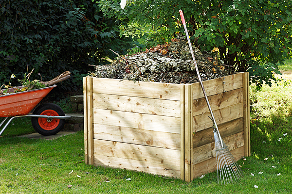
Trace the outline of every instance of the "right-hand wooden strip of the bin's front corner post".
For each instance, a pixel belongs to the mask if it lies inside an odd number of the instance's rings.
[[[184,161],[185,161],[185,181],[190,182],[192,178],[192,87],[190,84],[184,85],[184,117],[185,117],[185,140],[184,140]]]

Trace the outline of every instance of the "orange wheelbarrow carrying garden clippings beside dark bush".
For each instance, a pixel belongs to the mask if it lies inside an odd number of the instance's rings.
[[[62,108],[56,104],[45,103],[39,106],[37,104],[56,87],[55,83],[68,78],[70,78],[70,72],[66,71],[51,81],[43,82],[47,86],[45,88],[17,93],[12,92],[21,89],[22,86],[9,88],[11,94],[0,96],[0,117],[5,117],[0,124],[0,135],[13,119],[19,117],[32,117],[32,126],[41,135],[58,133],[65,124],[64,119],[69,119],[70,116],[65,116]],[[33,113],[30,113],[36,106]],[[4,127],[1,129],[2,125]]]

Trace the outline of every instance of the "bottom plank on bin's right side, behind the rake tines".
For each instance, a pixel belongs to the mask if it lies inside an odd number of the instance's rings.
[[[244,156],[244,146],[232,150],[231,154],[233,155],[236,161],[240,160]],[[193,165],[194,171],[193,178],[201,177],[201,175],[205,175],[216,170],[217,162],[215,157],[210,160]]]

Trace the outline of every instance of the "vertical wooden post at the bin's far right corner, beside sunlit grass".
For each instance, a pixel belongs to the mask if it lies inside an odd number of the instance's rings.
[[[244,156],[251,155],[249,73],[242,73]]]

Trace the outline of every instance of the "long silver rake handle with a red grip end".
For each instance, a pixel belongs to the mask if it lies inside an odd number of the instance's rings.
[[[213,124],[214,124],[213,128],[215,128],[217,130],[217,132],[219,134],[219,139],[220,139],[221,146],[223,147],[222,138],[220,136],[220,133],[219,133],[219,130],[218,130],[217,123],[215,121],[215,117],[214,117],[213,111],[211,109],[211,106],[210,106],[210,103],[209,103],[209,100],[208,100],[208,97],[207,97],[203,82],[201,80],[200,72],[199,72],[199,69],[198,69],[198,66],[197,66],[197,63],[196,63],[196,59],[195,59],[195,56],[194,56],[192,44],[191,44],[191,41],[190,41],[190,38],[189,38],[189,35],[188,35],[188,32],[187,32],[187,28],[186,28],[186,25],[185,25],[185,20],[184,20],[184,16],[183,16],[183,11],[182,10],[180,10],[180,15],[181,15],[181,18],[182,18],[183,28],[184,28],[184,32],[185,32],[185,35],[186,35],[186,38],[187,38],[187,42],[188,42],[188,45],[190,47],[190,51],[191,51],[191,54],[192,54],[192,57],[193,57],[193,60],[194,60],[196,72],[197,72],[197,75],[198,75],[198,78],[199,78],[199,81],[200,81],[200,84],[201,84],[201,88],[202,88],[204,97],[206,99],[206,102],[207,102],[207,105],[208,105],[208,108],[209,108],[209,111],[210,111],[210,114],[211,114],[211,117],[212,117],[211,120],[213,121]]]

